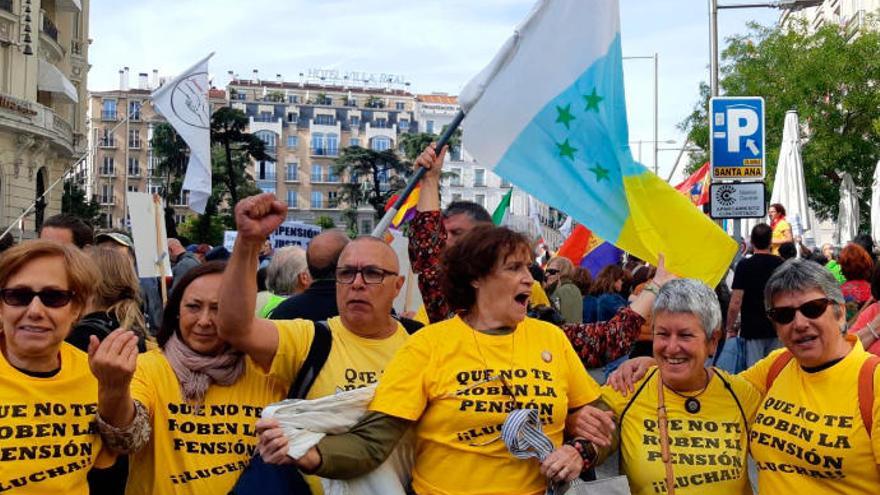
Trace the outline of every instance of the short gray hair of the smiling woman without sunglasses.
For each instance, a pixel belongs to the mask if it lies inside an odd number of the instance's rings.
[[[689,313],[700,320],[706,339],[721,328],[721,306],[715,291],[703,282],[692,278],[670,280],[663,284],[657,300],[654,301],[654,314]]]

